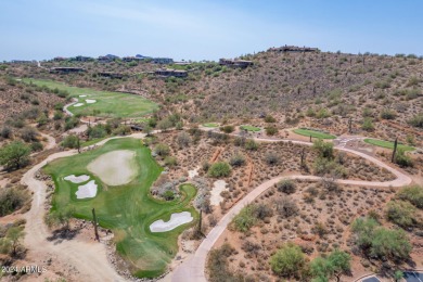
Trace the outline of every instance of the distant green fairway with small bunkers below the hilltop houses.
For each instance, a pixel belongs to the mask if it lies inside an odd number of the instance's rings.
[[[77,103],[84,103],[81,106],[69,106],[67,110],[73,114],[81,114],[85,116],[103,116],[103,117],[141,117],[152,113],[158,105],[143,97],[99,91],[89,88],[70,87],[62,82],[53,80],[41,80],[33,78],[24,78],[26,84],[35,84],[37,86],[46,86],[50,89],[66,90],[70,97],[78,99]],[[87,95],[87,97],[79,97]],[[95,100],[94,103],[87,103],[86,100]]]

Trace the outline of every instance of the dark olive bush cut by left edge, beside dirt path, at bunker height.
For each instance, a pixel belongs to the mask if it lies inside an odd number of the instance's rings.
[[[29,195],[23,188],[13,187],[0,190],[0,217],[12,214],[20,209]]]

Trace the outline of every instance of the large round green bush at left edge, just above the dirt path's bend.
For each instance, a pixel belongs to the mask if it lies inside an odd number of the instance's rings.
[[[7,169],[20,169],[29,163],[30,148],[21,141],[13,141],[0,149],[0,165]]]

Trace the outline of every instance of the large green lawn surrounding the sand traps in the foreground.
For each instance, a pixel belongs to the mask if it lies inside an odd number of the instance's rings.
[[[127,184],[107,187],[87,169],[87,165],[100,155],[116,150],[136,152],[138,175]],[[97,150],[56,159],[43,168],[55,183],[51,211],[73,207],[75,217],[91,220],[91,209],[95,208],[100,226],[114,232],[118,254],[129,262],[132,273],[140,278],[164,273],[167,264],[178,252],[178,235],[198,218],[191,206],[191,200],[196,193],[191,184],[181,185],[182,197],[179,200],[163,202],[151,197],[150,187],[162,170],[151,156],[150,149],[132,138],[110,140]],[[95,197],[76,198],[75,192],[84,183],[76,184],[63,179],[69,175],[88,175],[90,180],[95,180],[99,184]],[[167,221],[172,213],[180,211],[190,211],[194,220],[168,232],[150,231],[150,225],[155,220]]]

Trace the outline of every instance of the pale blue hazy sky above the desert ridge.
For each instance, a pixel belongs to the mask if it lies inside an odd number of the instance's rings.
[[[1,0],[0,61],[218,60],[298,44],[423,55],[421,0]]]

